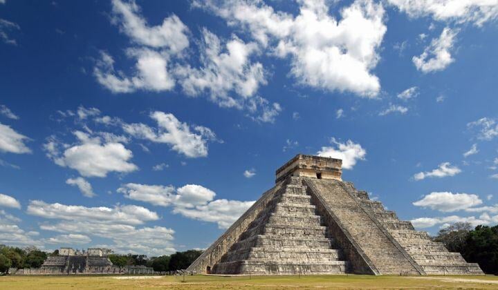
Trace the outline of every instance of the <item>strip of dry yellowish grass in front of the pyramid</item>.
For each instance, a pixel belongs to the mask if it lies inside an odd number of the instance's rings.
[[[0,289],[498,289],[498,276],[6,276]]]

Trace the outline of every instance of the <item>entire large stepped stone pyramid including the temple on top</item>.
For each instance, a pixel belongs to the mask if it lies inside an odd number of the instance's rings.
[[[266,191],[187,269],[297,275],[483,274],[411,222],[344,182],[342,160],[296,155]]]

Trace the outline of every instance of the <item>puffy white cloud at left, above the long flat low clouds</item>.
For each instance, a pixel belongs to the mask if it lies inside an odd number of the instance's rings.
[[[128,162],[133,153],[117,142],[102,143],[100,137],[92,137],[81,131],[73,134],[79,142],[73,146],[49,140],[44,144],[48,157],[59,166],[77,170],[84,177],[106,177],[109,172],[129,173],[138,167]],[[65,147],[60,153],[59,147]]]

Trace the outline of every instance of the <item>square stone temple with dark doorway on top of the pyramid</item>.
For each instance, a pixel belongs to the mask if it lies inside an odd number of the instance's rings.
[[[275,183],[289,176],[311,177],[319,180],[341,180],[342,160],[313,155],[297,154],[275,173]]]

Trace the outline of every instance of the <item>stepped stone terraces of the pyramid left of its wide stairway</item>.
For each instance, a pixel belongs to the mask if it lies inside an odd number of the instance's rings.
[[[211,273],[336,274],[347,268],[306,186],[299,178],[289,178]]]

